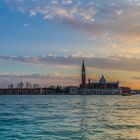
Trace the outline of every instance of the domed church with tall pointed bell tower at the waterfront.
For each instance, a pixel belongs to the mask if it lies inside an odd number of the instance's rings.
[[[119,81],[108,82],[102,75],[99,81],[91,82],[90,78],[86,81],[86,68],[83,61],[81,69],[81,84],[80,90],[87,95],[118,95],[120,94]]]

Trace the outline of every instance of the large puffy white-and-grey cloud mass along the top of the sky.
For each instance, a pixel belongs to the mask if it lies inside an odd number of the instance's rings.
[[[140,3],[132,0],[74,1],[74,0],[7,0],[30,16],[61,22],[94,36],[106,33],[119,39],[136,38],[140,42]],[[23,10],[24,9],[24,10]],[[20,11],[20,10],[19,10]]]

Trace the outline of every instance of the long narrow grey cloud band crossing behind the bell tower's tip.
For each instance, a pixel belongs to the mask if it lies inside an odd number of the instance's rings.
[[[59,57],[59,56],[0,56],[2,60],[19,61],[23,63],[56,65],[56,66],[81,66],[84,59],[87,67],[110,70],[140,71],[140,59],[123,56],[110,57]]]

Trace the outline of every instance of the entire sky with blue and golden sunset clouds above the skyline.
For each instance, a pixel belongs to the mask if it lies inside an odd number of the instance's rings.
[[[0,87],[79,85],[87,78],[140,89],[140,0],[0,0]]]

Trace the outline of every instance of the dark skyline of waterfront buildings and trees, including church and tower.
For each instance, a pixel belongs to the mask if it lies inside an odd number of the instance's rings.
[[[108,82],[102,75],[99,81],[92,81],[91,78],[86,81],[86,67],[83,60],[81,67],[81,84],[80,86],[50,86],[39,87],[38,84],[20,82],[17,87],[10,84],[8,88],[1,88],[0,95],[119,95],[130,92],[128,87],[119,87],[119,81]]]

